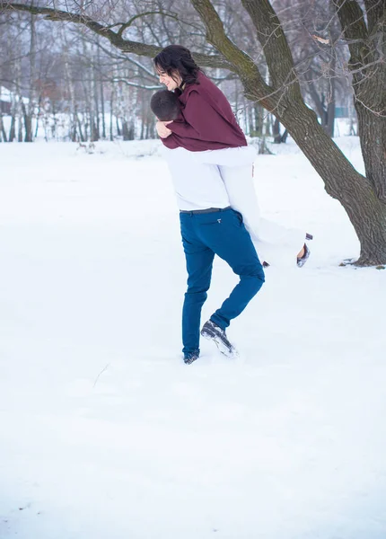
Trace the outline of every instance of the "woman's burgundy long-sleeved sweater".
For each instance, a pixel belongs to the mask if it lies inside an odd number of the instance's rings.
[[[172,133],[162,143],[191,152],[247,146],[224,93],[201,72],[197,83],[187,85],[180,94],[180,118],[167,126]]]

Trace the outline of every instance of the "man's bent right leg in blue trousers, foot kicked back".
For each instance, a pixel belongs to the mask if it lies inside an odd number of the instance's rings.
[[[228,209],[216,216],[219,218],[211,225],[207,216],[202,216],[206,218],[201,219],[197,235],[240,276],[231,295],[211,316],[212,322],[225,330],[259,292],[264,283],[264,271],[240,214]]]

